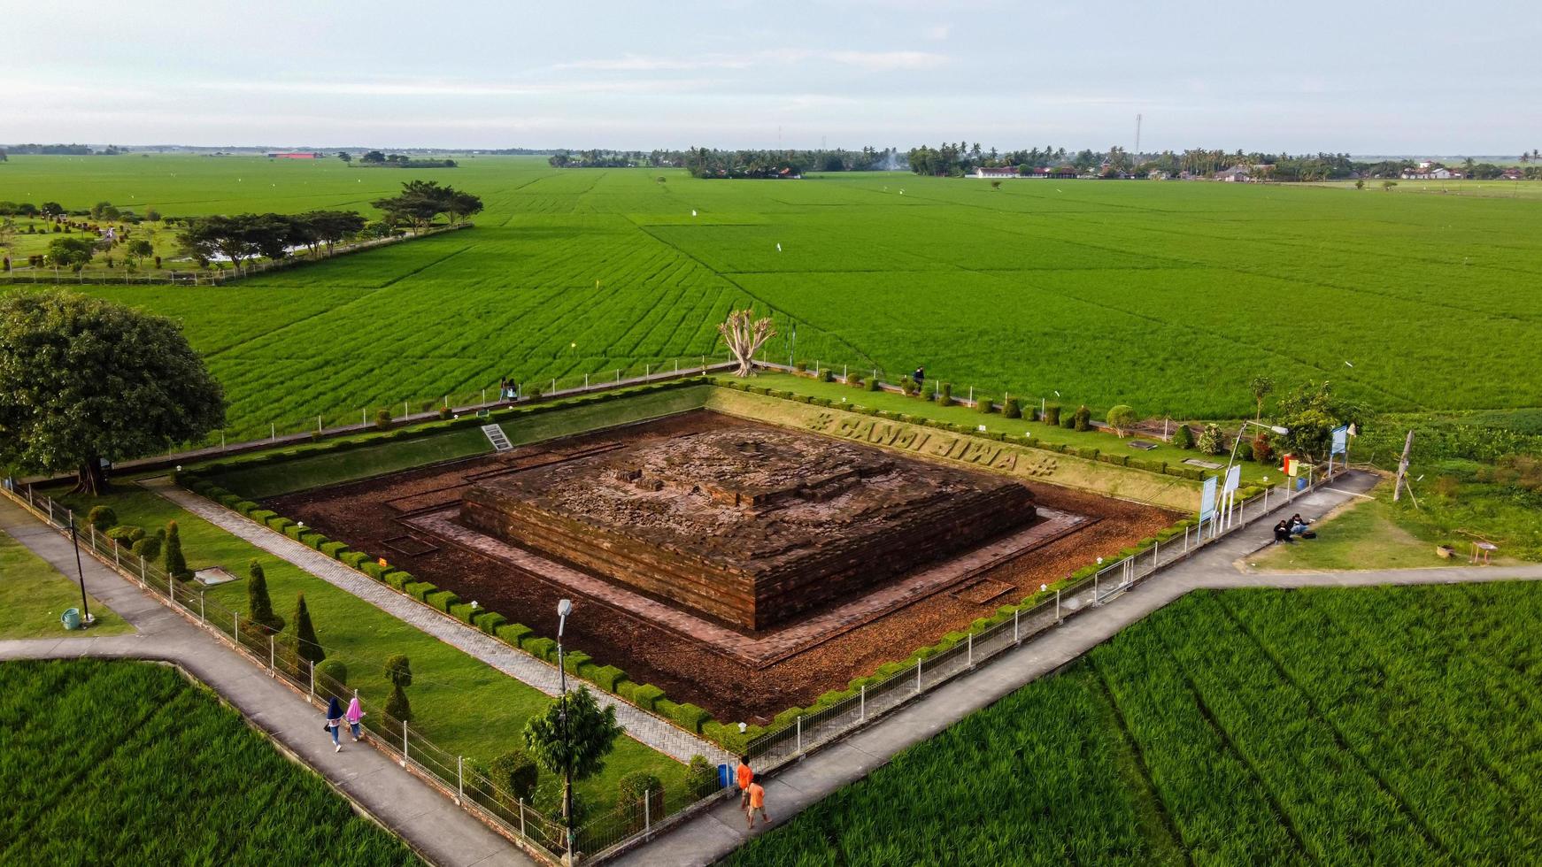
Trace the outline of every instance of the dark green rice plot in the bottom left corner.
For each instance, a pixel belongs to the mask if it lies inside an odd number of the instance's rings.
[[[3,864],[419,864],[171,667],[0,662]]]

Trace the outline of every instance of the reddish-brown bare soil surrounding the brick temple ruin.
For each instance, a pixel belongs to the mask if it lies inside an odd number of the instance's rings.
[[[526,624],[537,634],[555,636],[557,601],[571,591],[520,571],[509,564],[455,545],[436,551],[402,554],[382,542],[406,533],[399,522],[401,505],[424,508],[444,505],[455,497],[447,490],[466,484],[467,476],[498,468],[549,460],[552,450],[583,450],[620,437],[671,436],[699,430],[702,414],[686,414],[634,427],[567,437],[555,444],[520,448],[500,456],[476,457],[410,470],[392,476],[318,488],[270,502],[279,514],[304,521],[328,537],[347,542],[370,556],[384,556],[423,581],[453,590],[463,599],[476,599],[510,621]],[[583,650],[600,662],[623,668],[632,681],[649,682],[674,701],[705,707],[725,722],[769,718],[791,705],[813,704],[820,693],[842,688],[851,678],[868,675],[877,665],[904,659],[914,648],[931,644],[944,633],[967,627],[996,607],[1016,602],[1039,584],[1066,577],[1099,556],[1115,554],[1143,536],[1172,524],[1177,516],[1160,508],[1109,499],[1053,485],[1030,485],[1038,502],[1052,508],[1095,516],[1090,527],[1072,531],[1042,548],[985,573],[1015,590],[984,604],[971,604],[939,591],[921,602],[884,614],[839,634],[803,653],[754,668],[720,656],[695,639],[680,636],[626,611],[586,599],[574,599],[575,614],[567,622],[567,647]],[[435,494],[433,491],[441,491]],[[402,502],[401,497],[413,497]],[[398,507],[390,505],[398,500]]]

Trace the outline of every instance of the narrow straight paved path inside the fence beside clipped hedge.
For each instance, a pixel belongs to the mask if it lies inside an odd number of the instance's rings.
[[[321,551],[296,542],[282,533],[274,533],[273,530],[268,530],[242,514],[230,511],[222,505],[188,493],[173,485],[167,477],[145,479],[140,484],[187,511],[202,517],[204,521],[225,530],[231,536],[237,536],[239,539],[251,542],[276,557],[282,557],[295,564],[327,584],[364,599],[381,611],[386,611],[396,619],[432,634],[444,644],[481,659],[487,665],[492,665],[523,684],[535,687],[549,696],[555,696],[561,690],[561,676],[558,675],[555,665],[543,662],[529,653],[513,650],[487,633],[475,627],[469,627],[443,611],[430,608],[404,593],[373,581],[369,576],[328,557],[327,554],[322,554]],[[581,681],[575,679],[575,682],[571,684],[571,688],[577,688],[580,682]],[[651,713],[645,713],[625,701],[617,701],[601,690],[594,690],[594,695],[601,707],[614,705],[617,722],[626,728],[629,736],[646,747],[658,750],[668,756],[674,756],[680,762],[689,762],[694,755],[706,756],[712,764],[729,761],[728,753],[709,741],[697,738],[695,735],[665,722]]]

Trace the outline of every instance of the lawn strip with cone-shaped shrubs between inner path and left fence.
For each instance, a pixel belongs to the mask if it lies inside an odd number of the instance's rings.
[[[478,436],[480,431],[478,431]],[[384,707],[390,695],[386,659],[402,653],[412,661],[413,681],[407,690],[413,727],[439,747],[480,761],[523,745],[524,722],[544,711],[550,698],[449,644],[381,611],[369,602],[250,545],[230,533],[183,511],[154,493],[120,485],[116,493],[93,500],[66,499],[77,511],[108,504],[123,524],[145,528],[176,521],[188,568],[222,565],[242,577],[204,590],[208,599],[247,613],[247,564],[262,562],[273,610],[284,616],[285,630],[295,628],[295,599],[305,594],[316,634],[328,659],[348,667],[348,685],[370,707]],[[668,788],[677,788],[685,767],[631,738],[617,741],[604,772],[578,785],[594,804],[615,801],[617,781],[634,770],[648,770]],[[541,798],[554,798],[555,781],[543,775]],[[544,802],[543,802],[544,805]]]

